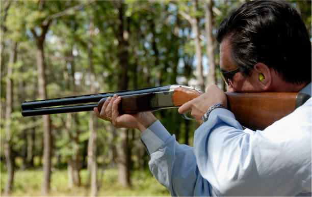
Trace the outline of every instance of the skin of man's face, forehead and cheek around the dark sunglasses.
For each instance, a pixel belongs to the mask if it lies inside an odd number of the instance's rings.
[[[230,61],[231,45],[227,38],[223,39],[220,43],[220,69],[221,71],[235,70],[236,67]],[[261,91],[253,81],[253,71],[251,76],[245,77],[241,72],[236,73],[232,78],[228,79],[229,85],[227,86],[227,92],[257,92]]]

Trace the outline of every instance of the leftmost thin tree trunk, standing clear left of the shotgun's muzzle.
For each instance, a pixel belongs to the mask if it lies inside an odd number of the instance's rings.
[[[10,60],[8,64],[8,75],[7,75],[7,88],[6,88],[6,116],[5,116],[5,132],[6,140],[4,144],[4,152],[6,156],[6,164],[8,168],[8,178],[4,194],[10,194],[12,192],[13,178],[14,178],[14,159],[12,156],[11,146],[11,114],[13,111],[13,80],[11,75],[13,74],[13,65],[16,62],[17,43],[12,41],[12,52],[10,54]]]

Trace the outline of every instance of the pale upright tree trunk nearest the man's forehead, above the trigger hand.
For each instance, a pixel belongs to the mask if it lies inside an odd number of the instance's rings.
[[[205,33],[206,33],[206,54],[209,60],[209,72],[207,75],[207,87],[216,84],[216,64],[213,37],[213,1],[206,0],[205,10]]]

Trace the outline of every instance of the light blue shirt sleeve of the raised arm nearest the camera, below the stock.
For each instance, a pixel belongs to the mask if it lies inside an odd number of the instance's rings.
[[[311,99],[265,130],[243,131],[215,109],[194,134],[201,176],[223,195],[294,196],[311,192]]]

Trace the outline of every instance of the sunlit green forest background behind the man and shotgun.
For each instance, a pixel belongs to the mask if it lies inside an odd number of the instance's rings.
[[[311,1],[289,1],[311,37]],[[93,111],[22,117],[21,103],[217,84],[216,29],[244,1],[1,1],[1,195],[169,195],[135,129]],[[154,112],[181,144],[195,122]]]

